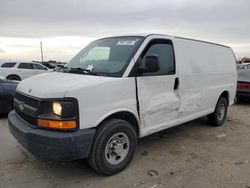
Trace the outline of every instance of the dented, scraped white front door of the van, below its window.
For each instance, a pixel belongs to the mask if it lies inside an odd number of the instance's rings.
[[[138,78],[138,96],[142,126],[153,128],[178,116],[178,92],[174,90],[175,75]]]

